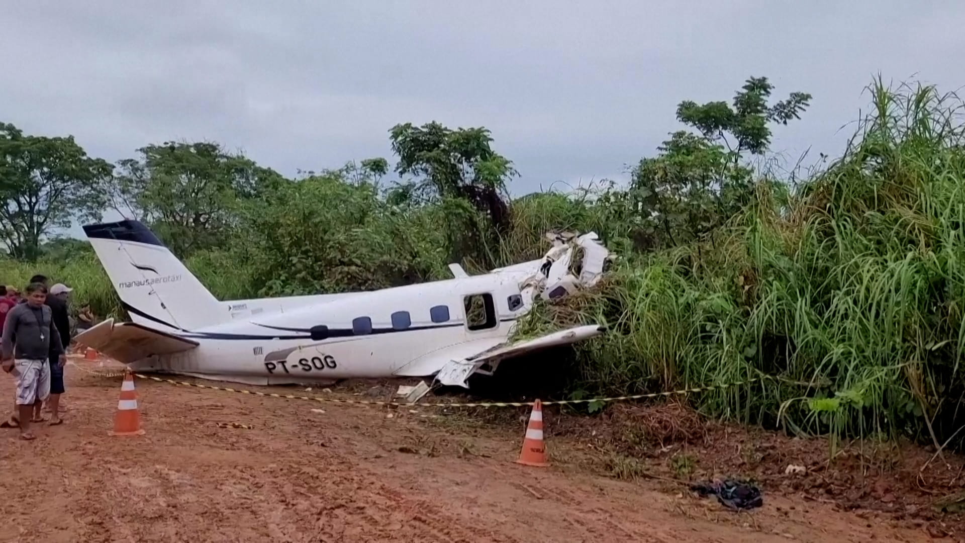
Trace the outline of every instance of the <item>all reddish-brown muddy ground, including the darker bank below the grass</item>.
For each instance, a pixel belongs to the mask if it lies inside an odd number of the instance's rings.
[[[429,416],[425,408],[410,413],[143,379],[136,385],[147,433],[115,438],[108,431],[120,378],[83,371],[100,370],[96,362],[72,361],[66,424],[37,428],[38,440],[29,443],[0,430],[0,541],[735,543],[965,535],[956,516],[934,507],[961,486],[955,471],[962,464],[950,455],[908,480],[927,451],[887,466],[875,456],[880,451],[831,464],[826,443],[716,426],[673,406],[638,406],[595,418],[547,409],[552,466],[527,468],[513,463],[525,410]],[[0,397],[12,398],[12,380],[0,377]],[[389,397],[392,386],[280,390],[360,399]],[[690,422],[660,430],[661,420]],[[628,438],[627,427],[647,432]],[[786,464],[808,471],[786,475]],[[763,507],[733,513],[677,480],[731,472],[760,481]]]

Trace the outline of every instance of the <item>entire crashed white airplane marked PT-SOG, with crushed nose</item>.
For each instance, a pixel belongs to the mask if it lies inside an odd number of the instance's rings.
[[[248,385],[434,377],[468,387],[500,361],[603,333],[596,325],[509,341],[537,297],[592,286],[611,258],[595,234],[548,234],[538,260],[371,292],[219,301],[144,224],[84,226],[132,322],[108,319],[77,342],[132,370]],[[581,262],[572,263],[575,257]],[[570,272],[570,270],[576,270]]]

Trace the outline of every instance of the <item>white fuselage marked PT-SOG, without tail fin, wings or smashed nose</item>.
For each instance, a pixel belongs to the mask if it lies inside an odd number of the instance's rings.
[[[531,295],[520,292],[520,281],[531,273],[495,272],[342,295],[224,301],[230,322],[191,331],[131,313],[136,323],[199,341],[196,349],[131,366],[267,385],[397,376],[435,351],[464,348],[469,355],[506,341],[516,319],[532,306]],[[483,318],[474,321],[482,326],[470,329],[464,300],[473,295],[483,297],[477,299],[483,301]],[[320,326],[328,333],[316,329],[313,338],[313,328]]]

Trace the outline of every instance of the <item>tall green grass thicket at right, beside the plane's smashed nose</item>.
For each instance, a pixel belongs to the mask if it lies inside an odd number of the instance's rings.
[[[563,302],[578,306],[575,320],[614,330],[579,348],[580,386],[636,392],[763,373],[786,381],[694,401],[798,432],[944,440],[965,423],[963,105],[932,87],[869,91],[874,107],[846,152],[789,205],[761,183],[723,243],[632,256],[609,292]],[[542,306],[521,331],[561,313]]]

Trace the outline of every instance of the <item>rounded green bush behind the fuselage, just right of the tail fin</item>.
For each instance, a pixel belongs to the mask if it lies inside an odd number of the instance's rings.
[[[441,272],[438,229],[393,214],[372,184],[341,171],[285,186],[244,216],[232,254],[261,296],[372,290]]]

